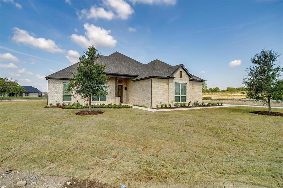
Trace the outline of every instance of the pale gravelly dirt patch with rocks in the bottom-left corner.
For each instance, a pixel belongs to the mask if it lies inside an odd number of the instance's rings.
[[[6,186],[6,188],[18,187],[18,181],[25,181],[25,188],[60,188],[64,185],[64,182],[70,179],[62,176],[41,175],[18,170],[13,170],[9,174],[4,174],[4,171],[7,169],[5,170],[0,168],[0,170],[0,187]]]

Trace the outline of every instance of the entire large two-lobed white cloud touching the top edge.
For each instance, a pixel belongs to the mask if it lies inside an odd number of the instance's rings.
[[[90,10],[82,9],[81,11],[77,11],[77,15],[79,19],[102,18],[112,20],[114,18],[128,19],[134,13],[133,8],[124,0],[103,0],[103,5],[106,9],[91,6]]]

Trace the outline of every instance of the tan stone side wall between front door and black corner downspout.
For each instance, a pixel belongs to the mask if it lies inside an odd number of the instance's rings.
[[[150,106],[150,79],[126,82],[126,103]]]

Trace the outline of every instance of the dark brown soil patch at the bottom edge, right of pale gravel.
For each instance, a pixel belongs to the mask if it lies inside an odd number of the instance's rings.
[[[69,185],[68,185],[69,184]],[[62,185],[62,188],[114,188],[111,185],[96,182],[96,181],[89,181],[89,180],[78,180],[78,179],[72,179],[70,181],[66,181],[64,185]]]

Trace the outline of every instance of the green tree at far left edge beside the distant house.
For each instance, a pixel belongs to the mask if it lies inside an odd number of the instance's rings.
[[[25,92],[24,87],[17,83],[17,80],[11,78],[0,78],[0,97],[8,93],[23,93]]]

